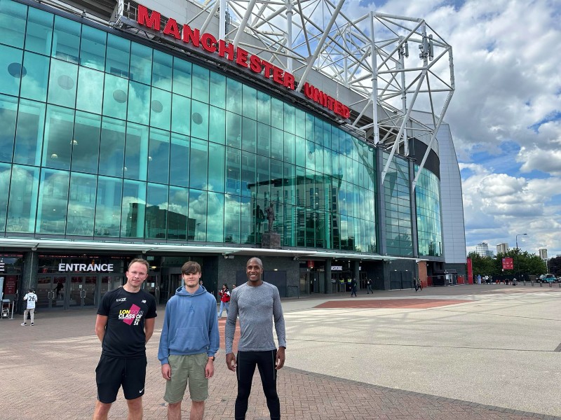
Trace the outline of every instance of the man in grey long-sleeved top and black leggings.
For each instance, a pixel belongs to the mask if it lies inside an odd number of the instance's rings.
[[[245,266],[248,282],[232,289],[226,321],[226,363],[238,377],[238,396],[234,418],[245,420],[255,366],[259,369],[271,420],[280,419],[280,401],[276,392],[276,371],[285,363],[285,319],[278,288],[262,281],[263,262],[251,258]],[[236,319],[240,316],[238,358],[232,351]],[[273,340],[275,322],[278,350]]]

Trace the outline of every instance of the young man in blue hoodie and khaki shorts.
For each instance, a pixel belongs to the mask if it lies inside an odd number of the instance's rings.
[[[201,266],[188,261],[181,267],[185,286],[175,290],[165,306],[158,359],[167,382],[163,399],[168,420],[181,419],[181,401],[189,384],[190,420],[202,420],[208,398],[208,379],[215,372],[220,338],[216,300],[200,286]]]

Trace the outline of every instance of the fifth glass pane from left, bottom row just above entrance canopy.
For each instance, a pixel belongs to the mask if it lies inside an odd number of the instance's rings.
[[[99,177],[95,203],[95,236],[119,237],[122,188],[122,179]]]

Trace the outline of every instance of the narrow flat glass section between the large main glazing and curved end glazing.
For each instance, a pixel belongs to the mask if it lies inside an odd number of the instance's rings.
[[[389,153],[384,152],[384,166]],[[409,162],[393,155],[384,180],[386,249],[390,255],[413,255]]]

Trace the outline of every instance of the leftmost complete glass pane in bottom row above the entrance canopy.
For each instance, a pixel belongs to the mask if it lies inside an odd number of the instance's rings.
[[[14,165],[10,184],[8,232],[35,232],[39,168]]]

